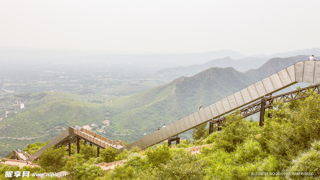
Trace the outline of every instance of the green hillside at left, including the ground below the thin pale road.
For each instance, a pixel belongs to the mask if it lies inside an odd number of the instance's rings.
[[[51,140],[63,131],[63,127],[83,126],[102,122],[100,104],[70,100],[53,100],[37,108],[17,113],[0,121],[0,155],[13,149],[23,149],[27,144]],[[59,130],[60,129],[60,130]],[[39,137],[29,140],[13,138]]]

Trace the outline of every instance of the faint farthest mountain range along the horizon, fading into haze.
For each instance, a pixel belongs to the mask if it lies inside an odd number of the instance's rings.
[[[141,69],[153,67],[161,70],[169,67],[203,64],[210,60],[230,57],[240,60],[248,57],[267,58],[291,57],[296,55],[320,56],[320,48],[295,50],[273,55],[243,55],[232,50],[209,51],[204,53],[124,55],[102,51],[72,49],[40,49],[30,47],[0,47],[0,63],[5,62],[55,62],[55,63],[101,63],[107,68]],[[209,67],[208,67],[209,68]],[[243,70],[241,70],[243,71]]]

